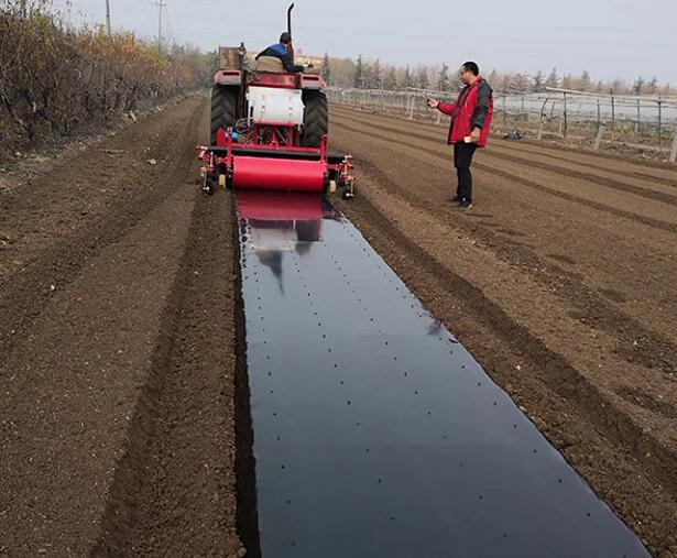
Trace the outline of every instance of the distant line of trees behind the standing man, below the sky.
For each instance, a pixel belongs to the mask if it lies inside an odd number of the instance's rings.
[[[448,65],[417,65],[415,67],[397,67],[382,64],[379,59],[367,61],[359,56],[350,58],[331,58],[325,54],[323,76],[331,85],[338,87],[354,87],[358,89],[435,89],[438,91],[456,91],[460,87],[456,68]],[[561,87],[590,92],[608,92],[613,89],[620,95],[669,95],[675,90],[669,85],[660,85],[656,77],[647,80],[638,77],[633,84],[622,79],[613,81],[594,81],[590,73],[580,75],[560,75],[556,68],[549,73],[543,70],[534,75],[521,73],[500,73],[492,70],[485,74],[492,87],[499,91],[538,92],[546,87]]]

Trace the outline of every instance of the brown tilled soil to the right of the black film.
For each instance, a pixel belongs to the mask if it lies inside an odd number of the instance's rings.
[[[439,127],[335,107],[341,209],[593,489],[677,556],[677,171],[493,141],[459,210]]]

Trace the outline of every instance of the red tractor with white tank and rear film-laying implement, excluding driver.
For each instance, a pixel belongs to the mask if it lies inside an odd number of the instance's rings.
[[[290,55],[294,61],[293,47]],[[317,68],[290,74],[281,59],[262,56],[252,69],[243,44],[221,48],[220,66],[211,90],[211,144],[197,147],[205,193],[218,186],[354,196],[352,157],[328,151],[327,84]]]

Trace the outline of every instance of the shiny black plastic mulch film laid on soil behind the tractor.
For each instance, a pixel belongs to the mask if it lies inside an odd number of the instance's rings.
[[[263,557],[649,556],[326,199],[237,206]]]

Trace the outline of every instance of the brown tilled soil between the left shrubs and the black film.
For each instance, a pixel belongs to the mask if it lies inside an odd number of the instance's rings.
[[[0,198],[0,555],[240,550],[232,211],[195,185],[207,117],[192,97]]]

